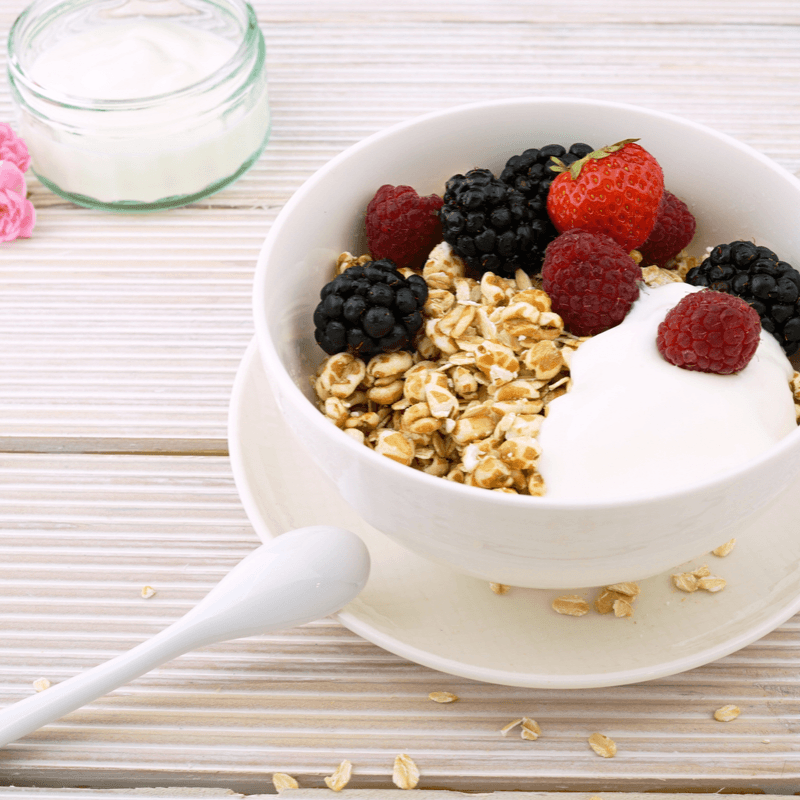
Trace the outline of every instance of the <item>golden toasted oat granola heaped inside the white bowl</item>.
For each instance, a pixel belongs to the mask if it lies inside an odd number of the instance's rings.
[[[343,253],[337,274],[368,259]],[[536,437],[547,404],[569,388],[570,357],[584,338],[564,331],[522,270],[475,280],[440,244],[422,275],[429,296],[415,352],[326,358],[313,379],[321,411],[398,463],[470,486],[544,494]]]

